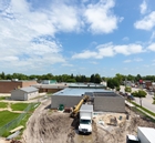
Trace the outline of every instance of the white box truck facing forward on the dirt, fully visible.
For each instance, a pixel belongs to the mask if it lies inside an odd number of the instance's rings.
[[[92,133],[93,105],[82,104],[80,109],[79,133]]]

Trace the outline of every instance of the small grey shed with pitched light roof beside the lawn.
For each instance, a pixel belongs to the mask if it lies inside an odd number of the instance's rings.
[[[11,100],[27,101],[37,98],[39,90],[33,86],[21,88],[11,91]]]

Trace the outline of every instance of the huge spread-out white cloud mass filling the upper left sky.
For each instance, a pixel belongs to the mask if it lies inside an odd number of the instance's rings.
[[[55,33],[81,29],[76,8],[53,1],[50,9],[34,9],[31,2],[0,2],[1,68],[28,70],[25,67],[39,69],[66,62]]]

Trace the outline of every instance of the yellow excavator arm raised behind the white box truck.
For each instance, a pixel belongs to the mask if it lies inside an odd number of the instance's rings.
[[[71,112],[71,118],[75,118],[80,111],[81,105],[89,100],[87,95],[84,95],[83,99],[79,102],[76,106],[74,106],[73,111]]]

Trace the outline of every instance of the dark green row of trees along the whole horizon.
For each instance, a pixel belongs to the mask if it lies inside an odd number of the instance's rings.
[[[118,86],[123,83],[123,81],[133,81],[137,82],[140,80],[149,80],[155,82],[155,75],[146,75],[141,76],[137,75],[123,75],[120,73],[116,73],[114,78],[105,78],[101,76],[99,73],[92,74],[91,76],[86,75],[73,75],[73,74],[62,74],[62,75],[53,75],[52,73],[46,73],[42,75],[27,75],[23,73],[13,73],[13,74],[6,74],[4,72],[0,73],[0,80],[12,80],[12,79],[19,79],[19,80],[56,80],[58,82],[94,82],[100,83],[101,81],[107,81],[107,84],[111,84],[111,88],[114,89],[114,86]]]

